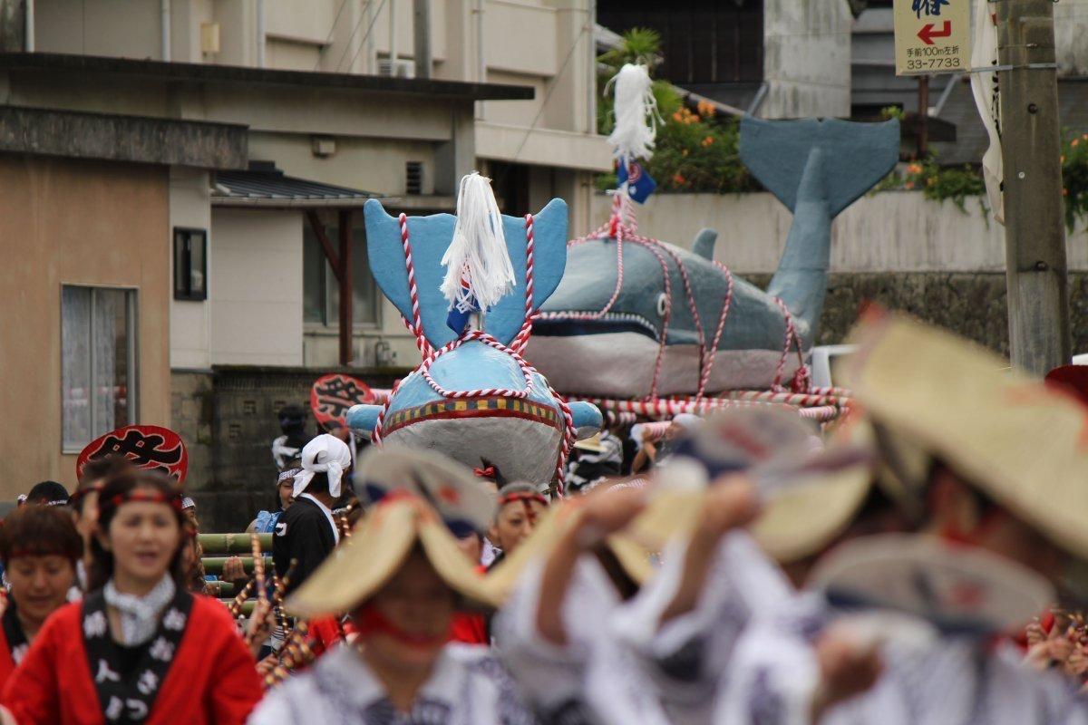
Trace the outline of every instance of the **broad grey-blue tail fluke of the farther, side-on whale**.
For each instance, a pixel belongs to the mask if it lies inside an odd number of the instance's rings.
[[[741,161],[792,212],[808,157],[821,151],[823,187],[832,218],[876,186],[899,161],[899,121],[741,120]]]

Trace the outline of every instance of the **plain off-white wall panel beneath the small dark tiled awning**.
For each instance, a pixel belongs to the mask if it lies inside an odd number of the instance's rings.
[[[213,208],[212,364],[302,364],[302,215]]]

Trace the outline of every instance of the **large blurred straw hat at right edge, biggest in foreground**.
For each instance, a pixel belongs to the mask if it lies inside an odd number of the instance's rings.
[[[1088,557],[1088,408],[905,315],[857,327],[840,372],[873,417],[1054,543]]]

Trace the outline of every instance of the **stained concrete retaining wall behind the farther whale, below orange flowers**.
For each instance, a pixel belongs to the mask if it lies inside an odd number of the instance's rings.
[[[593,202],[595,218],[606,218],[607,197]],[[762,288],[778,266],[792,223],[769,193],[655,195],[638,211],[641,234],[688,248],[701,228],[717,229],[716,259]],[[1003,229],[976,199],[967,200],[965,213],[917,191],[863,197],[831,227],[831,275],[817,343],[842,341],[860,310],[877,302],[1007,354]],[[1084,224],[1067,235],[1067,249],[1073,349],[1088,352]]]

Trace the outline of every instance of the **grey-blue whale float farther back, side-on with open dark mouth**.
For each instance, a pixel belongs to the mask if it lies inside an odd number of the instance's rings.
[[[623,240],[618,290],[615,238],[571,247],[566,274],[541,309],[527,358],[567,395],[692,395],[712,357],[706,392],[770,387],[787,330],[779,300],[789,310],[800,346],[811,348],[827,291],[831,220],[894,167],[899,141],[894,120],[866,124],[744,118],[741,159],[793,212],[793,224],[766,291],[733,277],[732,302],[716,348],[712,342],[729,277],[713,262],[715,233],[704,229],[691,251],[662,243],[655,253],[646,245]],[[663,263],[668,267],[668,292]],[[702,335],[689,309],[689,288]],[[788,355],[783,382],[798,366],[798,355]]]

